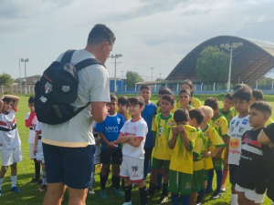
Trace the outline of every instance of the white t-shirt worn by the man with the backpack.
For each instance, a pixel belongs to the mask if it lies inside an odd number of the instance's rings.
[[[60,61],[63,55],[61,54],[57,60]],[[87,58],[94,58],[94,56],[86,50],[77,50],[71,58],[71,63],[75,65]],[[98,64],[91,65],[80,69],[78,76],[78,97],[71,104],[72,106],[80,108],[86,106],[88,102],[111,101],[109,76],[105,67]],[[90,112],[91,105],[79,112],[74,118],[62,124],[47,125],[42,123],[42,141],[50,145],[69,148],[94,145],[95,140],[92,135]]]

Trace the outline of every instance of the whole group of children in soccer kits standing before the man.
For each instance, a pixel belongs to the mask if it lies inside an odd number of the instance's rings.
[[[92,123],[96,139],[94,164],[101,164],[102,199],[108,198],[106,185],[111,170],[111,188],[114,194],[124,197],[123,205],[132,205],[133,184],[139,188],[141,205],[148,204],[155,190],[162,190],[158,204],[166,203],[169,194],[174,205],[180,200],[183,205],[202,204],[205,193],[212,193],[210,200],[216,200],[227,190],[228,173],[232,184],[230,204],[263,202],[271,163],[267,153],[272,149],[258,142],[258,135],[273,123],[271,106],[262,101],[260,90],[251,90],[247,85],[238,85],[233,94],[227,93],[223,108],[219,108],[216,97],[207,97],[202,106],[193,90],[192,82],[184,81],[175,100],[172,90],[162,87],[157,105],[150,100],[149,85],[142,85],[138,97],[117,98],[111,94],[109,115],[101,123]],[[22,160],[15,120],[18,100],[14,96],[0,100],[0,195],[7,166],[12,169],[12,191],[20,192],[16,188],[16,162]],[[46,191],[41,124],[35,115],[33,97],[28,106],[29,154],[36,170],[36,177],[29,183],[39,182],[41,163],[40,190]],[[94,173],[95,169],[90,176],[90,193],[94,193]],[[147,190],[145,179],[149,173]]]

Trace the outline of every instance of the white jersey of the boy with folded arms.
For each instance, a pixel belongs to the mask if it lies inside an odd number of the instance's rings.
[[[148,132],[147,124],[143,118],[137,121],[132,121],[132,119],[129,119],[128,121],[126,121],[123,127],[121,128],[120,133],[123,136],[135,135],[135,138],[142,138],[142,142],[140,146],[137,148],[133,147],[129,143],[126,143],[126,142],[123,143],[122,155],[126,155],[126,156],[137,158],[137,159],[144,159],[143,146],[145,143],[147,132]]]

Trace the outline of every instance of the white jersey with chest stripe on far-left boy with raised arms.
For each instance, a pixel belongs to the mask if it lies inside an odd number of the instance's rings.
[[[16,109],[11,109],[6,115],[0,112],[0,150],[20,147],[21,140],[15,126]]]

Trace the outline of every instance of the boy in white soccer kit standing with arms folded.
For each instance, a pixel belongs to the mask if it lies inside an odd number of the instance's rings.
[[[142,97],[129,97],[129,111],[132,119],[125,122],[115,144],[123,143],[120,177],[124,179],[125,202],[132,205],[132,182],[140,191],[141,205],[147,204],[146,186],[143,180],[144,142],[147,124],[141,117],[144,108]]]

